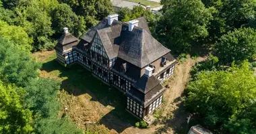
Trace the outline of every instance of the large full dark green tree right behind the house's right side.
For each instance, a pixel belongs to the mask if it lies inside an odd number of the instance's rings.
[[[189,52],[191,45],[208,35],[207,25],[212,8],[205,8],[200,0],[163,0],[163,15],[158,21],[158,40],[176,52]]]

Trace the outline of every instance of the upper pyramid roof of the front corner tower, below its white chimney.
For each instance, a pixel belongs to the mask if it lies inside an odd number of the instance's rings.
[[[133,84],[133,86],[146,94],[158,84],[160,84],[160,81],[154,75],[148,77],[144,74],[141,76],[141,78],[139,78],[139,80],[137,80],[137,82]]]

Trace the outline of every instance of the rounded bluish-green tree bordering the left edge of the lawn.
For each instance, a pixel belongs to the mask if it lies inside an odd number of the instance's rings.
[[[58,115],[59,103],[57,93],[59,82],[49,78],[31,80],[25,87],[25,101],[31,111],[39,117],[54,117]]]

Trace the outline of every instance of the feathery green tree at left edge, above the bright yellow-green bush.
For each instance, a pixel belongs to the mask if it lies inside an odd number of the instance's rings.
[[[19,47],[0,38],[0,79],[4,82],[26,86],[31,78],[38,77],[40,64]]]

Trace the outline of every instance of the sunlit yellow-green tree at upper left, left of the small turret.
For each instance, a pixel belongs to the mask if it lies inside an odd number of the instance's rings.
[[[24,27],[30,37],[33,38],[33,50],[52,49],[55,42],[51,36],[55,33],[51,25],[51,16],[49,11],[54,7],[45,9],[50,3],[49,0],[38,1],[34,0],[27,7],[15,9],[18,17],[15,18],[15,25]],[[53,3],[54,5],[54,3]]]

